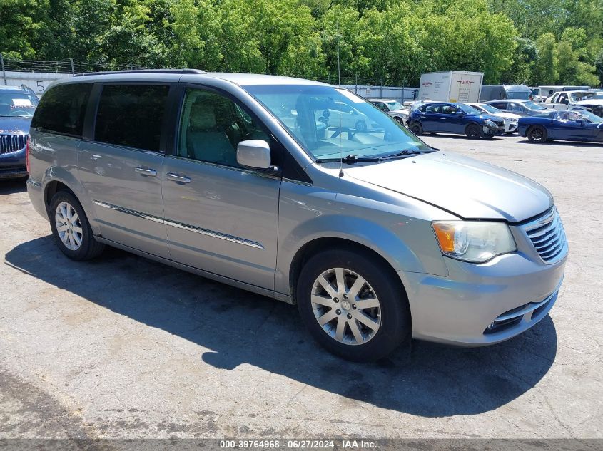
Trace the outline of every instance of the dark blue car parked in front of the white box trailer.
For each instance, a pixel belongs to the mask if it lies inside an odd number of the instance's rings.
[[[505,121],[463,103],[433,102],[412,111],[408,128],[415,135],[457,133],[467,138],[492,138],[505,133]]]

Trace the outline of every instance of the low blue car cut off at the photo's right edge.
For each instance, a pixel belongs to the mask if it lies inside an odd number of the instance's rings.
[[[520,118],[517,132],[531,142],[603,142],[603,118],[585,110],[554,111],[544,116]]]

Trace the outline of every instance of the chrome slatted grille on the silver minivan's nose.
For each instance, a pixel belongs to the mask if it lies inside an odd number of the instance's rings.
[[[567,255],[567,239],[561,218],[553,207],[524,226],[529,241],[545,263],[555,263]]]

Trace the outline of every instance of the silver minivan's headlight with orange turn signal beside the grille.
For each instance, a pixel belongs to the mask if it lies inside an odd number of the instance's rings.
[[[435,221],[432,226],[442,254],[453,259],[484,263],[517,250],[504,222]]]

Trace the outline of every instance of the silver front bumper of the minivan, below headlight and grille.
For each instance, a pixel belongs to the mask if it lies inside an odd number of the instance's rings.
[[[414,338],[458,346],[508,340],[534,326],[557,300],[566,258],[534,261],[518,251],[486,264],[445,258],[447,277],[399,271]]]

